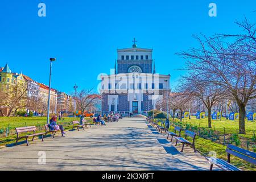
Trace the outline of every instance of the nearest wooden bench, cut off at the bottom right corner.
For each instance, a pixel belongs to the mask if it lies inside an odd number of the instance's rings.
[[[254,152],[247,151],[237,146],[233,146],[232,144],[229,144],[227,146],[226,152],[228,153],[228,161],[225,161],[223,159],[212,158],[212,157],[207,158],[210,162],[210,171],[212,171],[213,164],[215,164],[216,166],[220,167],[225,171],[241,171],[241,169],[230,164],[230,155],[234,155],[240,159],[245,160],[246,162],[256,165],[256,153]]]

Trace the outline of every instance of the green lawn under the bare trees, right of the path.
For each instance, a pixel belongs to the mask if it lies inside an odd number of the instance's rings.
[[[165,119],[155,119],[159,121],[165,121]],[[175,118],[174,121],[171,119],[171,125],[174,126],[181,126],[183,129],[188,128],[188,130],[192,130],[194,132],[196,131],[208,131],[208,118],[204,119],[196,119],[195,117],[192,117],[191,119],[183,119],[182,122],[180,122],[178,119]],[[197,150],[199,150],[202,154],[208,156],[210,151],[214,151],[217,154],[218,158],[227,160],[227,154],[225,152],[226,146],[224,145],[224,127],[225,127],[225,144],[230,143],[230,136],[232,134],[236,134],[238,131],[238,121],[230,121],[226,120],[225,118],[222,118],[220,120],[212,120],[212,136],[214,135],[220,135],[218,138],[209,138],[207,135],[204,135],[204,137],[199,137],[197,135],[195,139],[195,144]],[[254,151],[256,150],[256,141],[253,139],[254,132],[256,131],[256,122],[252,121],[246,121],[245,122],[245,128],[246,128],[246,134],[238,134],[241,144],[238,147],[242,147],[247,149],[247,142],[249,142],[249,150]],[[174,131],[174,127],[170,126],[170,130]],[[208,132],[206,132],[207,134]],[[198,133],[197,133],[198,134]],[[184,130],[181,132],[181,137],[185,137]],[[235,143],[231,143],[235,145]],[[236,158],[234,156],[231,157],[231,163],[234,164],[234,166],[237,166],[238,168],[241,168],[243,170],[256,170],[256,167],[253,164],[247,163],[244,160],[240,158]]]

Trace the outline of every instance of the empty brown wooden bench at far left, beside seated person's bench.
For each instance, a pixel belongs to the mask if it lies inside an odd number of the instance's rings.
[[[16,130],[16,134],[17,134],[17,138],[16,138],[16,143],[15,144],[18,143],[19,139],[26,138],[26,143],[27,143],[27,146],[28,146],[28,140],[27,139],[29,137],[33,137],[32,141],[34,141],[34,138],[36,136],[42,136],[42,142],[44,141],[43,135],[45,133],[35,133],[35,131],[36,131],[36,127],[35,126],[16,127],[15,130]],[[28,135],[24,135],[24,136],[19,137],[20,133],[28,133],[28,132],[31,132],[31,131],[33,131],[33,134],[28,134]]]

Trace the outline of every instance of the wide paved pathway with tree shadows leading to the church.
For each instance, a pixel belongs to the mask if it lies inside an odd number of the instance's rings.
[[[143,118],[123,118],[107,126],[68,131],[41,142],[0,149],[0,170],[208,170],[200,154],[166,143]],[[46,152],[46,164],[38,164],[38,152]]]

